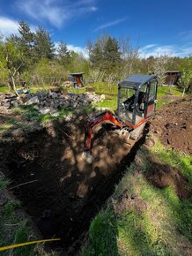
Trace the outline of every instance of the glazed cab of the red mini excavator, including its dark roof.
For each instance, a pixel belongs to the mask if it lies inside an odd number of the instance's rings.
[[[128,125],[143,123],[155,112],[158,81],[154,75],[132,75],[118,84],[115,113]]]

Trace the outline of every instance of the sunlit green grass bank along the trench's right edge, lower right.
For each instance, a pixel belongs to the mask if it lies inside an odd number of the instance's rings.
[[[130,165],[111,202],[92,221],[82,255],[189,255],[192,199],[181,200],[172,186],[159,189],[148,182],[145,173],[154,166],[149,160],[153,154],[161,164],[180,169],[192,189],[192,157],[166,149],[159,142],[150,150],[142,147],[138,152],[140,165]],[[124,192],[129,195],[128,206],[121,208]]]

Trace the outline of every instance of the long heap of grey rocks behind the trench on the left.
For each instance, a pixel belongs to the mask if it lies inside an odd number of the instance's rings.
[[[15,97],[10,94],[0,94],[0,108],[10,109],[18,105],[33,105],[34,109],[58,109],[58,108],[78,108],[92,102],[100,102],[105,99],[105,95],[98,94],[62,94],[55,92],[41,92],[36,94],[26,94],[25,97]]]

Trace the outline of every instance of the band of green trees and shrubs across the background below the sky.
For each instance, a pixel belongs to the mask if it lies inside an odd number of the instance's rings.
[[[89,40],[87,53],[88,58],[69,50],[63,41],[58,42],[55,49],[46,29],[39,26],[33,32],[26,21],[21,20],[18,34],[6,39],[0,36],[0,82],[16,91],[21,81],[27,85],[61,85],[70,72],[85,72],[86,79],[107,81],[109,86],[133,73],[154,72],[162,84],[169,69],[180,70],[183,73],[181,87],[187,91],[191,88],[191,57],[141,58],[138,42],[133,46],[129,37],[116,39],[109,34],[101,34],[94,42]]]

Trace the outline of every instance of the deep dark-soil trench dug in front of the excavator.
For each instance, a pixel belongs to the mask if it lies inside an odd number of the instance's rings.
[[[92,218],[144,143],[145,136],[126,144],[100,128],[92,148],[94,162],[88,164],[82,158],[84,123],[84,117],[48,123],[43,131],[4,149],[11,191],[42,237],[62,238],[52,245],[62,255],[78,252]]]

